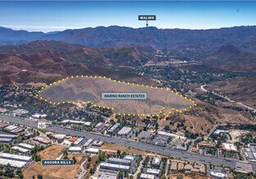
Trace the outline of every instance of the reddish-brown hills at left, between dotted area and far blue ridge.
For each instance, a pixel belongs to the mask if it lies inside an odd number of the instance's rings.
[[[147,60],[150,53],[144,46],[91,48],[65,41],[33,41],[20,46],[0,47],[0,83],[49,83],[65,76],[101,75],[115,79],[130,77],[134,81],[148,81],[146,77],[130,72],[113,71],[111,66],[129,67],[138,59]],[[151,50],[151,49],[150,49]]]

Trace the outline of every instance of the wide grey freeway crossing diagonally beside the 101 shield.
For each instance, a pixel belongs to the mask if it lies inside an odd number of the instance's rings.
[[[2,116],[2,115],[0,115],[0,120],[21,124],[21,125],[25,125],[33,128],[38,128],[38,122],[33,120],[25,120],[25,119],[17,118],[14,116]],[[74,129],[66,129],[61,126],[55,126],[52,124],[47,124],[46,130],[54,133],[64,133],[67,135],[79,136],[87,139],[89,138],[97,139],[97,140],[101,140],[104,142],[108,142],[108,143],[112,143],[120,146],[132,147],[141,151],[149,151],[159,155],[172,156],[175,158],[186,159],[190,161],[199,162],[202,164],[213,164],[213,165],[219,165],[219,166],[222,165],[224,167],[230,167],[230,168],[236,168],[237,164],[240,164],[240,161],[237,159],[225,159],[220,157],[199,155],[199,154],[194,154],[188,151],[178,151],[178,150],[174,150],[174,149],[170,149],[162,146],[155,146],[152,144],[147,144],[142,142],[134,142],[124,138],[113,138],[113,137],[101,135],[98,133],[88,133],[84,131],[83,132],[77,131]],[[254,172],[256,171],[256,164],[243,163],[243,166],[244,165],[245,167],[252,168],[252,171]]]

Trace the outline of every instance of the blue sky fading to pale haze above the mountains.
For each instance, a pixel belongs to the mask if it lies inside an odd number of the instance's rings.
[[[137,15],[156,15],[157,28],[256,25],[256,2],[0,2],[0,26],[28,31],[144,27]]]

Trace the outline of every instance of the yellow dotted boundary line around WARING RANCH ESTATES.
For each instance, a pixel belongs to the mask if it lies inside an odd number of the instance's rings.
[[[162,110],[159,111],[159,114],[126,114],[126,113],[114,113],[114,116],[151,116],[151,117],[159,117],[159,116],[164,116],[164,117],[168,117],[170,115],[172,115],[174,112],[177,112],[177,113],[182,113],[183,111],[188,111],[189,109],[191,109],[192,107],[196,107],[196,103],[195,101],[193,101],[191,98],[187,98],[186,95],[182,95],[178,92],[174,92],[173,90],[171,89],[168,89],[168,88],[163,88],[163,87],[158,87],[158,86],[153,86],[153,85],[140,85],[140,84],[136,84],[136,83],[130,83],[130,82],[126,82],[126,81],[118,81],[118,80],[113,80],[111,78],[108,78],[106,76],[88,76],[88,75],[81,75],[81,76],[67,76],[65,78],[62,78],[61,80],[58,80],[58,81],[54,81],[53,83],[50,83],[48,85],[45,85],[41,88],[41,90],[38,91],[38,94],[35,94],[35,96],[47,103],[50,103],[52,105],[60,105],[60,104],[65,104],[65,103],[69,103],[69,104],[77,104],[77,105],[80,105],[80,104],[91,104],[92,107],[98,107],[98,108],[102,108],[102,109],[108,109],[108,110],[113,110],[115,111],[115,108],[114,107],[105,107],[105,106],[100,106],[100,105],[97,105],[95,103],[92,103],[91,101],[87,101],[87,102],[72,102],[72,101],[63,101],[63,102],[59,102],[59,103],[56,103],[56,102],[51,102],[51,101],[48,101],[46,98],[43,98],[42,96],[40,96],[39,94],[42,93],[43,89],[47,89],[48,87],[52,86],[52,85],[56,85],[57,83],[60,83],[61,81],[65,81],[65,80],[68,80],[68,79],[72,79],[72,78],[79,78],[79,77],[84,77],[84,78],[105,78],[107,80],[110,80],[110,81],[115,81],[117,83],[123,83],[123,84],[127,84],[127,85],[137,85],[137,86],[141,86],[141,87],[144,87],[144,88],[151,88],[151,89],[160,89],[160,90],[167,90],[167,91],[171,91],[171,93],[173,94],[176,94],[182,98],[185,98],[186,100],[189,100],[191,101],[191,103],[194,103],[194,105],[188,107],[188,108],[185,108],[183,110],[179,110],[179,109],[176,109],[176,108],[172,108],[172,111],[168,111],[167,113],[164,112],[164,109],[165,107],[162,107]],[[165,120],[165,118],[164,118]]]

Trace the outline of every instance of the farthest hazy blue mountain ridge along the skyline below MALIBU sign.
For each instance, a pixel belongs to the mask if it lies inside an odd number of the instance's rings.
[[[35,40],[66,41],[91,47],[145,45],[179,50],[200,49],[213,52],[218,46],[233,45],[256,53],[256,26],[241,26],[208,30],[128,28],[119,26],[68,29],[55,33],[29,33],[0,28],[1,43],[28,43]]]

